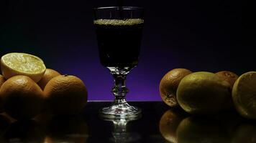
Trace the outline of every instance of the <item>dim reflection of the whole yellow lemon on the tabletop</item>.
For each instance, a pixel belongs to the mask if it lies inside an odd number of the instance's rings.
[[[214,119],[188,117],[183,119],[177,129],[178,143],[227,143],[229,138],[221,124]]]

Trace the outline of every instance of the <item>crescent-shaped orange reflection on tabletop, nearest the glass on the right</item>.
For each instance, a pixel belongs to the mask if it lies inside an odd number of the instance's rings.
[[[159,129],[168,142],[177,143],[176,130],[178,124],[186,117],[181,109],[169,109],[160,119]]]

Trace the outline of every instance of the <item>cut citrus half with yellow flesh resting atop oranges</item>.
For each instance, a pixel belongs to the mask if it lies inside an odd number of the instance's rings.
[[[24,75],[38,82],[45,74],[45,69],[42,59],[32,54],[9,53],[1,56],[1,72],[5,79]]]

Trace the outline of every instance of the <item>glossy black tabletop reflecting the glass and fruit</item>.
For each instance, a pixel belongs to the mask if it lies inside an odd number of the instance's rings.
[[[88,102],[78,116],[50,114],[29,121],[0,116],[0,142],[256,142],[256,122],[229,111],[214,116],[191,116],[163,102],[129,102],[142,109],[137,120],[106,121],[99,109],[111,102]]]

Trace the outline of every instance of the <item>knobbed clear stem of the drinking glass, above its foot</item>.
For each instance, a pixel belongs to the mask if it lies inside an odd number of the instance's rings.
[[[124,103],[125,96],[127,94],[128,89],[125,87],[125,79],[127,74],[113,74],[114,77],[114,87],[112,88],[112,93],[115,96],[115,103]]]

